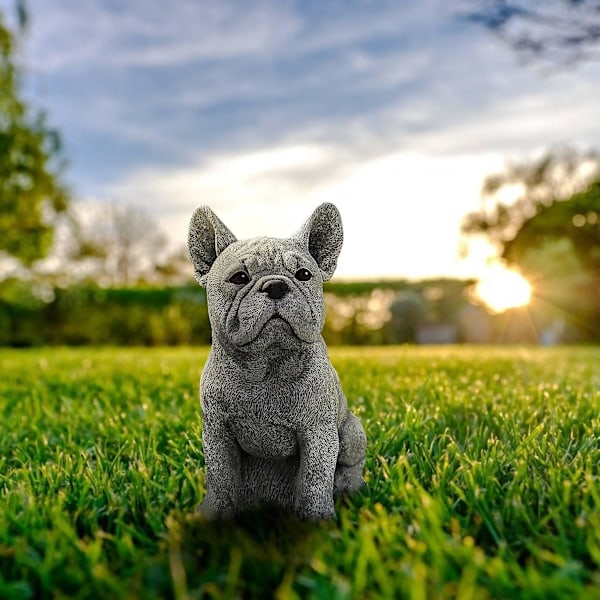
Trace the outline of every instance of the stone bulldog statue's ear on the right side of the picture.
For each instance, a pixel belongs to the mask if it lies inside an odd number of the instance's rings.
[[[319,265],[323,281],[331,279],[344,241],[338,209],[333,204],[321,204],[294,237],[305,245]]]

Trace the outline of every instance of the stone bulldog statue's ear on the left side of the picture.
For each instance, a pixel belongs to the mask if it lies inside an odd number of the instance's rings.
[[[194,263],[196,281],[200,285],[206,285],[206,276],[217,256],[235,241],[235,235],[208,206],[199,206],[194,211],[190,221],[188,250]]]

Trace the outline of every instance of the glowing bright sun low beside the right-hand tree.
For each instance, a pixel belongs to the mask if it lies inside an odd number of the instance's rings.
[[[525,306],[531,300],[531,284],[519,272],[500,264],[490,266],[475,286],[475,295],[493,312]]]

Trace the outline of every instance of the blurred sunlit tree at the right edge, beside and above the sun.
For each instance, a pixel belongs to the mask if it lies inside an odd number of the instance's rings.
[[[507,187],[515,202],[497,200]],[[569,321],[600,338],[600,157],[551,153],[488,177],[481,211],[467,215],[463,233],[483,235],[534,286],[542,325]],[[577,336],[575,336],[577,337]]]

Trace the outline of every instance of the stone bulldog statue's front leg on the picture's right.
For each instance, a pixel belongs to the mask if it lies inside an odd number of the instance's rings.
[[[335,423],[320,426],[298,435],[300,469],[296,483],[294,509],[303,519],[331,519],[333,480],[339,451]]]

